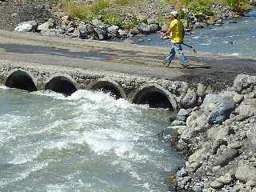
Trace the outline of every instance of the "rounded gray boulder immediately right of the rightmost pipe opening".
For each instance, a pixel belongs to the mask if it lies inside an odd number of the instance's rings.
[[[187,90],[186,94],[184,94],[181,98],[180,102],[181,106],[184,109],[193,108],[198,105],[198,95],[194,90]]]

